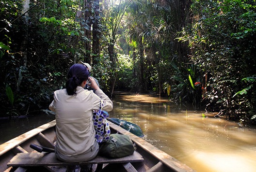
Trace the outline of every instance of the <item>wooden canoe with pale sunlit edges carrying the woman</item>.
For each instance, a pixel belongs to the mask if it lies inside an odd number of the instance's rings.
[[[160,149],[156,148],[152,144],[144,141],[142,138],[128,132],[125,129],[109,122],[112,133],[120,133],[128,135],[131,140],[136,144],[136,153],[141,155],[144,159],[140,162],[129,162],[132,167],[124,168],[125,171],[129,172],[193,172],[193,170],[185,165],[184,163],[178,161],[177,159],[171,157]],[[54,147],[55,143],[55,125],[56,121],[53,120],[45,125],[42,125],[36,129],[32,129],[6,143],[0,145],[0,172],[20,172],[20,171],[31,171],[31,167],[16,167],[8,166],[10,160],[14,157],[18,157],[19,153],[30,153],[36,152],[33,150],[30,145],[37,144],[45,147]],[[39,155],[44,155],[43,153],[38,153]],[[54,156],[54,153],[52,153]],[[127,163],[126,163],[127,164]],[[65,172],[65,166],[60,168],[49,168],[51,162],[39,166],[39,171],[54,171],[54,172]],[[65,164],[64,164],[65,165]],[[108,164],[103,164],[103,167],[106,167]],[[123,164],[124,165],[124,164]],[[116,170],[115,169],[116,166]],[[108,168],[110,170],[102,171],[118,171],[120,172],[120,164],[111,164]],[[108,169],[106,168],[106,169]],[[43,170],[42,170],[43,169]],[[37,171],[38,169],[36,169]],[[33,170],[35,171],[35,170]],[[124,170],[123,170],[124,171]]]

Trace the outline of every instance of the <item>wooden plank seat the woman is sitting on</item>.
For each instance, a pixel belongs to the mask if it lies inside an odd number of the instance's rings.
[[[132,155],[123,158],[105,158],[96,156],[96,158],[84,162],[63,162],[57,159],[55,153],[18,153],[7,164],[8,167],[36,167],[36,166],[71,166],[71,165],[85,165],[85,164],[116,164],[120,163],[125,168],[132,162],[142,162],[144,158],[137,151]],[[132,167],[129,167],[132,168]]]

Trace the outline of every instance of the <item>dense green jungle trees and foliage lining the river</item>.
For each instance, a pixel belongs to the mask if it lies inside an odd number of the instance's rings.
[[[255,122],[255,0],[1,0],[1,116],[48,109],[80,60],[110,97]]]

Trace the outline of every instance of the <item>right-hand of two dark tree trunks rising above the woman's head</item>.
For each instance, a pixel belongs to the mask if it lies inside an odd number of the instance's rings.
[[[99,0],[94,1],[95,6],[95,22],[93,23],[93,65],[97,64],[97,58],[99,58],[100,53],[100,31],[99,31]]]

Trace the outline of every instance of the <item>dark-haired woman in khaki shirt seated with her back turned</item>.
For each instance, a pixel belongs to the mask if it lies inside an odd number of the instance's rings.
[[[95,90],[86,90],[87,80]],[[67,73],[66,89],[54,92],[49,109],[56,113],[55,154],[66,162],[80,162],[96,157],[99,145],[95,139],[93,111],[112,111],[113,103],[99,88],[83,64],[74,64]]]

